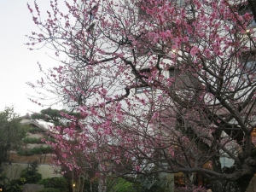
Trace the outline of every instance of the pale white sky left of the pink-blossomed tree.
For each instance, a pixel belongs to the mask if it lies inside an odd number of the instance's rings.
[[[42,13],[49,9],[49,0],[37,2]],[[26,82],[36,82],[42,76],[38,73],[38,61],[44,67],[56,64],[46,55],[48,49],[28,50],[25,45],[28,42],[25,35],[37,31],[26,3],[33,5],[34,0],[0,0],[0,111],[14,105],[20,115],[43,109],[27,96],[35,92]]]

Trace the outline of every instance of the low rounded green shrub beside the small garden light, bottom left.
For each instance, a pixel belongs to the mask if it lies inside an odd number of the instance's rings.
[[[64,177],[44,178],[38,184],[44,184],[45,188],[59,189],[61,192],[68,192],[68,183]]]

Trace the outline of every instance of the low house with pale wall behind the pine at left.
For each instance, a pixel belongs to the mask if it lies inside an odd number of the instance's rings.
[[[49,131],[37,120],[32,119],[28,113],[18,119],[22,125],[28,125],[27,137],[23,139],[24,143],[25,141],[28,143],[25,143],[24,148],[21,148],[20,151],[9,152],[10,163],[3,165],[9,180],[19,178],[20,172],[35,160],[38,161],[38,172],[42,174],[43,178],[61,176],[60,173],[56,172],[59,168],[53,164],[55,154],[52,154],[48,147],[40,142],[45,136],[49,137]]]

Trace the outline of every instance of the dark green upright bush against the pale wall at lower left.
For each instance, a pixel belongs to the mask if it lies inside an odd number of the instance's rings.
[[[26,169],[22,170],[20,177],[24,177],[26,183],[38,183],[42,179],[42,175],[38,173],[38,162],[34,161],[29,164]]]

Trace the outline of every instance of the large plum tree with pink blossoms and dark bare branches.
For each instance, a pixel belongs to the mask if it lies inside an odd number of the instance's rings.
[[[37,3],[28,5],[39,29],[29,48],[48,44],[68,58],[30,83],[79,113],[62,113],[70,123],[56,127],[61,163],[93,167],[99,176],[196,172],[212,181],[212,191],[245,191],[256,171],[255,32],[247,1],[66,5],[64,13],[51,1],[47,20]]]

